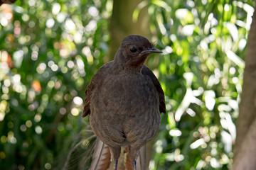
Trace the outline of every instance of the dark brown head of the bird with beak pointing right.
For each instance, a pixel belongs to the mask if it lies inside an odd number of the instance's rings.
[[[151,53],[161,53],[161,50],[140,35],[129,35],[122,40],[114,60],[122,62],[125,67],[142,67]]]

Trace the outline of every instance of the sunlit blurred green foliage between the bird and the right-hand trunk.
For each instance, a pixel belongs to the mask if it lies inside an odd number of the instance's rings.
[[[151,31],[164,48],[166,95],[151,169],[229,169],[254,9],[248,1],[159,1]],[[154,59],[149,61],[154,65]]]

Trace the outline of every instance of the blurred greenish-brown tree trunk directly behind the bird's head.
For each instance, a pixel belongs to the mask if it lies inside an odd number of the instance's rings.
[[[149,14],[147,7],[139,12],[137,22],[132,21],[134,9],[143,0],[119,1],[114,0],[112,18],[110,23],[110,52],[107,60],[113,60],[115,52],[124,37],[131,34],[142,35],[149,38]]]

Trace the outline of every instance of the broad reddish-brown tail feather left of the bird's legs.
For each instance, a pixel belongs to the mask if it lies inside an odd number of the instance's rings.
[[[110,147],[105,145],[98,137],[95,143],[95,152],[92,156],[90,170],[106,170],[110,166]]]

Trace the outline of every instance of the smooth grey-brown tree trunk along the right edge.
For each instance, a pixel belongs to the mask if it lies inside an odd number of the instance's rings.
[[[256,169],[256,13],[248,37],[233,170]]]

